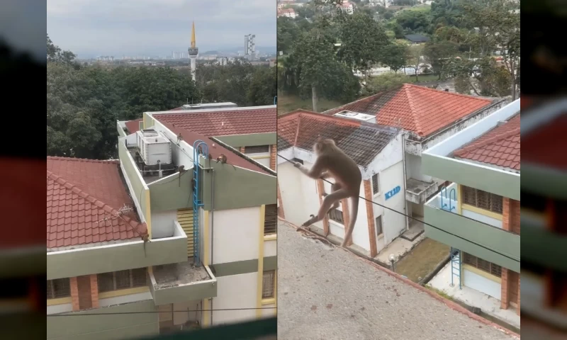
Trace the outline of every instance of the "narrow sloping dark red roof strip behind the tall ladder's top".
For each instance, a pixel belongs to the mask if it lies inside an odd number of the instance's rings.
[[[262,172],[263,174],[269,174],[273,176],[273,174],[270,174],[269,171],[266,171],[258,164],[255,164],[254,162],[249,161],[244,157],[241,157],[240,155],[230,151],[229,149],[223,147],[222,145],[219,145],[218,142],[211,140],[210,137],[199,135],[196,132],[184,128],[179,128],[177,127],[177,125],[174,126],[171,123],[162,122],[162,124],[169,130],[174,132],[175,135],[179,135],[181,133],[181,137],[183,137],[183,140],[189,143],[189,145],[193,145],[193,142],[195,142],[196,140],[203,140],[203,142],[206,142],[208,145],[208,152],[211,155],[212,159],[216,159],[218,156],[220,156],[220,154],[224,154],[227,157],[228,164],[232,164],[234,166],[240,166],[241,168],[244,169],[258,171],[258,172]],[[215,145],[214,147],[213,144]]]

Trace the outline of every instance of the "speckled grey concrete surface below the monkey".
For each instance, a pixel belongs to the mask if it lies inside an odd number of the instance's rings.
[[[280,221],[278,339],[517,338]]]

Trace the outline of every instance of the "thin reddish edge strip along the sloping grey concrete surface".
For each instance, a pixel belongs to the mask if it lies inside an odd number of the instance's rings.
[[[288,222],[287,220],[284,220],[281,217],[278,217],[279,220],[282,220],[283,222],[286,222],[288,225],[291,225],[294,228],[298,228],[296,225],[293,225],[293,223]],[[310,230],[306,230],[305,232],[311,233],[311,234],[316,234],[315,232],[312,232]],[[318,235],[319,236],[319,235]],[[344,248],[340,248],[340,249],[344,249]],[[350,249],[344,249],[345,251],[347,251],[350,254],[354,254],[357,255],[356,253],[354,253],[352,250]],[[361,259],[361,261],[366,261],[367,263],[369,263],[371,266],[374,266],[375,268],[378,268],[379,270],[387,273],[389,276],[392,276],[393,278],[396,278],[398,280],[401,280],[403,283],[411,285],[412,287],[416,288],[417,290],[421,290],[423,293],[426,293],[428,295],[430,295],[431,297],[433,297],[435,300],[442,302],[444,305],[447,305],[447,307],[451,308],[451,310],[455,310],[456,312],[460,312],[461,314],[465,314],[466,316],[470,317],[471,319],[474,319],[478,322],[481,322],[482,324],[485,324],[487,326],[490,327],[494,327],[495,329],[499,329],[500,331],[503,331],[504,334],[510,335],[510,336],[515,336],[517,339],[520,339],[520,334],[517,334],[513,331],[510,331],[509,329],[505,329],[504,327],[500,326],[499,324],[495,324],[494,322],[490,322],[489,320],[478,316],[477,314],[474,314],[473,312],[467,310],[465,307],[459,305],[458,303],[451,301],[445,297],[442,297],[441,295],[433,292],[432,290],[429,290],[425,287],[422,287],[422,285],[419,285],[418,283],[413,282],[412,280],[410,280],[409,278],[404,278],[403,276],[400,276],[398,273],[394,273],[393,271],[391,271],[388,268],[385,268],[383,266],[378,265],[378,263],[375,263],[374,261],[371,261],[369,259],[364,259],[364,256],[358,256],[357,258]]]

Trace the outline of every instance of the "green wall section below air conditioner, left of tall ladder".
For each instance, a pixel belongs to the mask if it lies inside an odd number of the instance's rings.
[[[193,208],[193,169],[148,184],[152,212]]]

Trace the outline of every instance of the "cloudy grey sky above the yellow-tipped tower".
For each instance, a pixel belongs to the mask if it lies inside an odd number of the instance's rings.
[[[276,46],[276,0],[47,0],[47,33],[79,57],[186,51],[193,20],[201,52]]]

